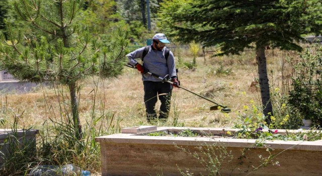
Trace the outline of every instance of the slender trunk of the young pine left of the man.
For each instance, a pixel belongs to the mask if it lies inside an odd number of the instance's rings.
[[[78,101],[76,96],[76,83],[70,83],[68,85],[70,93],[70,103],[71,103],[71,114],[74,123],[75,137],[78,140],[83,138],[81,120],[79,120],[78,114]]]

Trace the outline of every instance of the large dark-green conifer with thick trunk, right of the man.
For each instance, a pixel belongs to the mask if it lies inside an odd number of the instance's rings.
[[[159,18],[168,34],[181,42],[196,41],[203,47],[220,46],[218,55],[239,54],[256,48],[263,113],[273,115],[265,47],[302,48],[303,34],[321,34],[320,0],[169,0]]]

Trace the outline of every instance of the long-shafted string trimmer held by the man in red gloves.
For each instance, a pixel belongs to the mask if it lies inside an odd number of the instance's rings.
[[[135,68],[135,67],[134,67],[134,66],[132,66],[132,65],[126,65],[126,66],[131,67],[131,68]],[[146,73],[147,73],[147,74],[150,74],[150,75],[152,75],[152,76],[154,76],[154,77],[156,77],[156,78],[158,78],[158,79],[160,79],[160,80],[162,80],[162,82],[168,82],[168,83],[170,83],[170,84],[174,84],[171,80],[169,80],[169,79],[168,79],[169,74],[167,74],[165,77],[161,77],[161,76],[159,76],[159,75],[157,75],[157,74],[155,74],[155,73],[151,73],[151,72],[149,72],[149,71],[147,71]],[[181,89],[183,89],[183,90],[185,90],[185,91],[188,91],[188,92],[190,92],[191,94],[194,94],[194,95],[196,95],[196,96],[198,96],[198,97],[200,97],[200,98],[202,98],[202,99],[208,100],[209,102],[216,104],[215,106],[210,107],[210,111],[220,110],[220,111],[221,111],[221,112],[223,112],[223,113],[230,113],[230,112],[231,112],[231,110],[230,110],[229,108],[227,108],[227,106],[220,105],[220,104],[218,104],[218,103],[216,103],[216,102],[214,102],[214,101],[212,101],[212,100],[210,100],[210,99],[207,99],[206,97],[203,97],[203,96],[201,96],[201,95],[199,95],[199,94],[196,94],[196,93],[194,93],[194,92],[192,92],[192,91],[190,91],[190,90],[186,89],[185,87],[183,87],[183,86],[181,86],[181,85],[178,85],[178,87],[179,87],[179,88],[181,88]]]

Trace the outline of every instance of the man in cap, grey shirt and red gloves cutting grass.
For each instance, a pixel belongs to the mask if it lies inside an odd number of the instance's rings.
[[[166,43],[170,43],[166,35],[161,33],[155,34],[152,39],[153,42],[150,46],[139,48],[126,56],[129,59],[129,64],[135,66],[142,74],[147,121],[150,122],[155,119],[166,121],[170,111],[173,85],[178,87],[179,82],[173,53],[166,47]],[[143,65],[134,60],[137,58],[142,59]],[[161,77],[169,74],[174,84],[162,82],[162,80],[146,74],[147,71]],[[161,102],[158,117],[155,112],[157,96]]]

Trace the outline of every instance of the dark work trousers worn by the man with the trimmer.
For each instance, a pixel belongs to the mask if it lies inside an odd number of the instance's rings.
[[[157,96],[161,102],[158,119],[166,120],[170,112],[170,101],[173,86],[168,82],[143,81],[144,103],[147,121],[156,119],[155,104]]]

